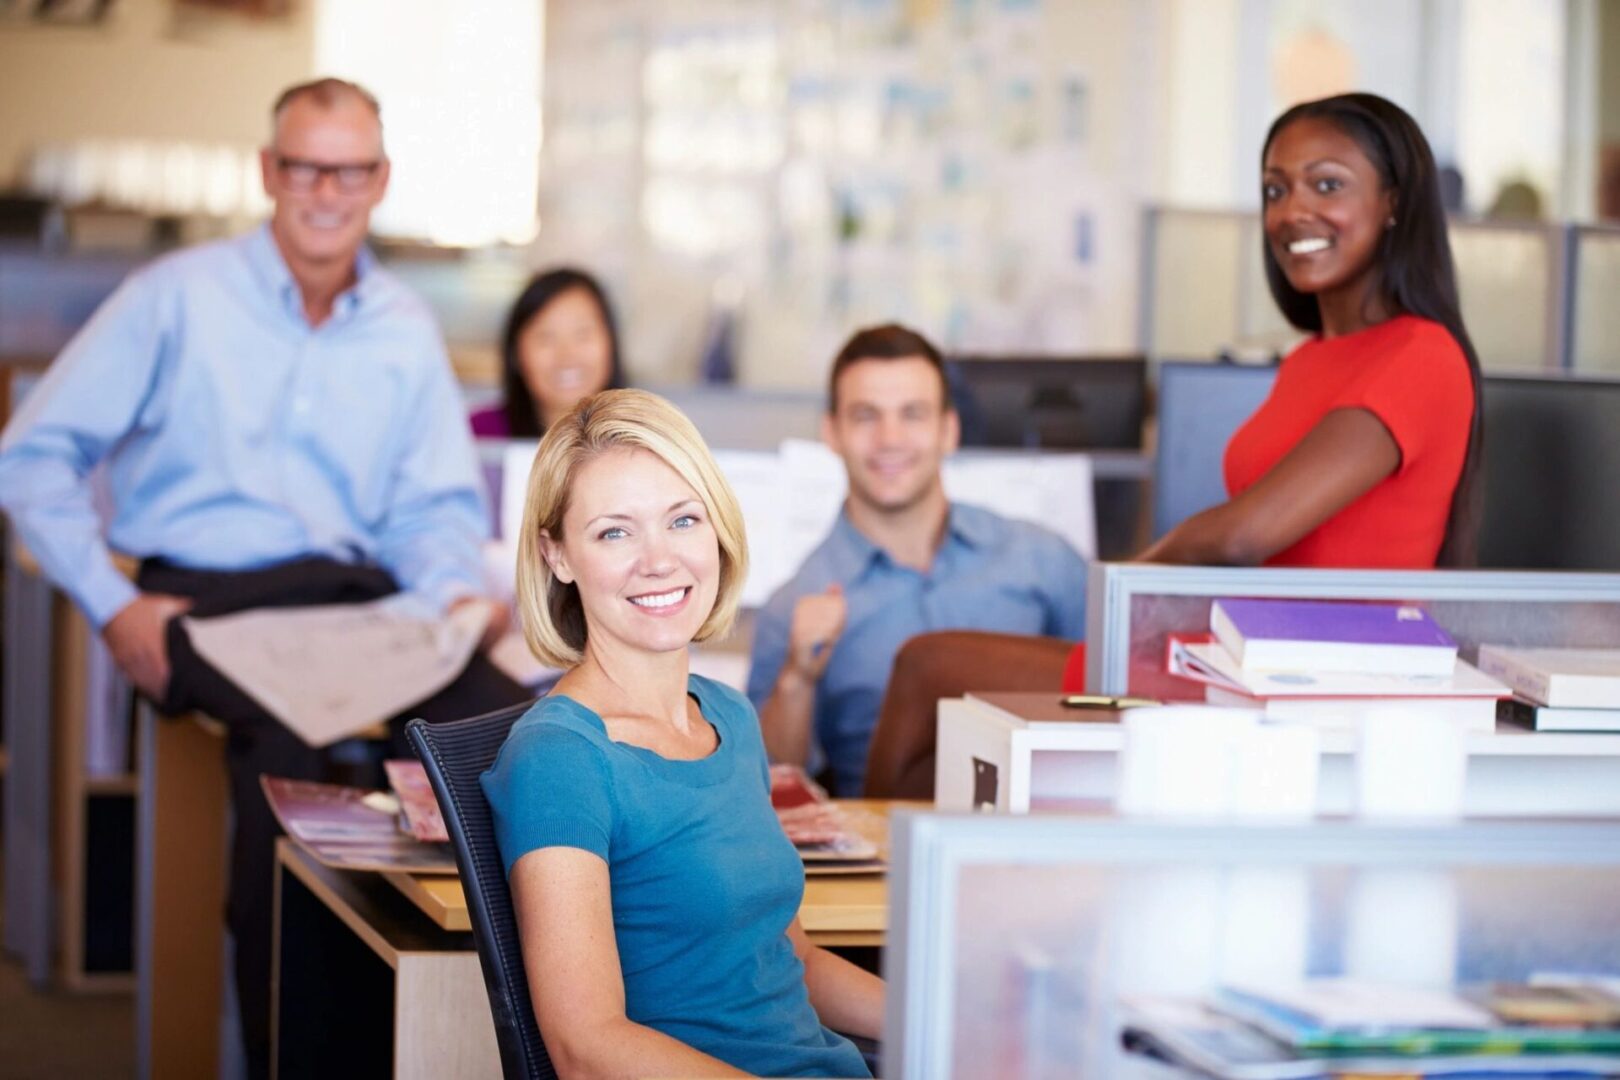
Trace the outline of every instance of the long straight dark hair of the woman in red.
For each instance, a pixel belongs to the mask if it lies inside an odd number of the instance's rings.
[[[1379,170],[1385,191],[1393,194],[1395,223],[1382,232],[1374,256],[1379,298],[1390,314],[1413,314],[1447,329],[1468,358],[1468,376],[1474,387],[1474,418],[1468,431],[1468,455],[1452,492],[1452,512],[1445,523],[1445,539],[1435,559],[1440,567],[1473,567],[1477,562],[1479,517],[1484,497],[1481,484],[1482,424],[1479,406],[1479,353],[1463,327],[1463,309],[1456,298],[1456,269],[1452,243],[1445,232],[1445,207],[1440,201],[1440,173],[1418,121],[1377,94],[1340,94],[1294,105],[1265,133],[1260,168],[1277,134],[1296,120],[1325,120],[1348,134]],[[1311,293],[1288,283],[1283,267],[1262,240],[1265,280],[1283,317],[1301,330],[1322,332],[1322,308]]]

